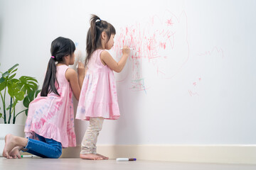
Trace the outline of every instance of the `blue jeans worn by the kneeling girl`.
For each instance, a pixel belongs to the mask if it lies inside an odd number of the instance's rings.
[[[62,154],[62,145],[53,139],[48,139],[36,134],[38,140],[28,138],[26,152],[43,158],[59,158]]]

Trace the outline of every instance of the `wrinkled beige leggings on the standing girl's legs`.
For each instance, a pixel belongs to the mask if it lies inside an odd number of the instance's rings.
[[[90,125],[82,138],[80,154],[97,154],[97,136],[102,130],[103,120],[104,118],[90,118]]]

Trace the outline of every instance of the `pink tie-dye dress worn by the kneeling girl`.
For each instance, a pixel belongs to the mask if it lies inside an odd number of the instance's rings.
[[[73,111],[73,93],[65,72],[68,66],[57,67],[56,77],[59,87],[57,94],[53,92],[42,97],[41,94],[28,107],[26,120],[26,137],[34,138],[35,133],[61,142],[62,147],[75,147],[75,128]]]

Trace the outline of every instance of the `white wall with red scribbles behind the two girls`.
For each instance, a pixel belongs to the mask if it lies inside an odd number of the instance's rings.
[[[70,38],[84,56],[95,13],[117,30],[113,56],[122,36],[135,48],[115,74],[122,116],[105,121],[98,144],[255,144],[255,7],[255,1],[1,0],[0,71],[18,63],[18,76],[42,85],[50,42]],[[75,123],[79,143],[87,123]]]

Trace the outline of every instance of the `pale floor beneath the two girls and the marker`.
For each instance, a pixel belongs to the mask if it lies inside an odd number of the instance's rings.
[[[41,159],[41,158],[22,158],[22,159],[5,159],[0,158],[0,169],[3,170],[249,170],[256,169],[256,165],[242,164],[191,164],[176,162],[153,162],[140,161],[136,162],[116,162],[114,159],[102,161],[90,161],[82,159]]]

